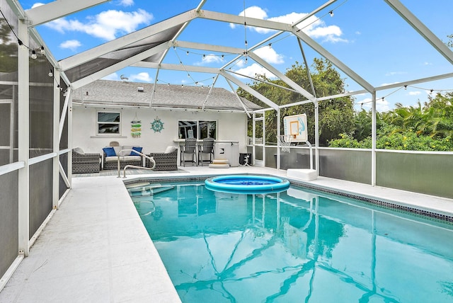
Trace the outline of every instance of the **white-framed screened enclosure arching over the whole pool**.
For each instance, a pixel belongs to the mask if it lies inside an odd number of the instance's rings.
[[[72,127],[72,113],[76,107],[137,108],[137,113],[142,108],[156,113],[173,110],[193,115],[241,113],[253,125],[248,134],[238,134],[246,142],[241,148],[253,155],[253,164],[287,169],[308,167],[309,149],[302,144],[282,152],[276,139],[267,142],[266,132],[270,130],[266,129],[265,113],[275,115],[276,135],[283,135],[282,110],[309,104],[313,108],[308,122],[314,128],[312,160],[319,176],[453,198],[452,151],[395,151],[376,147],[376,114],[388,96],[405,89],[438,91],[452,86],[453,52],[445,40],[453,33],[432,30],[430,26],[452,24],[448,16],[452,4],[448,0],[431,1],[429,9],[398,0],[372,1],[366,7],[362,1],[354,0],[305,1],[309,3],[298,7],[285,7],[283,2],[281,11],[268,12],[269,17],[260,18],[246,9],[254,5],[248,1],[167,2],[172,8],[155,14],[154,20],[142,28],[126,31],[108,42],[98,40],[96,45],[86,42],[81,52],[56,57],[54,53],[63,40],[48,28],[63,26],[62,21],[77,18],[81,11],[95,14],[112,9],[113,1],[60,0],[31,8],[22,7],[25,1],[0,0],[0,277],[6,277],[4,281],[21,258],[28,256],[42,224],[71,190],[71,149],[73,136],[78,132]],[[370,16],[374,7],[379,10]],[[294,13],[301,10],[303,13]],[[350,13],[357,10],[362,13]],[[279,14],[293,19],[270,18]],[[351,19],[356,28],[345,28],[343,25]],[[387,19],[397,26],[387,28],[383,22]],[[218,24],[222,26],[209,30]],[[345,33],[356,33],[354,38],[345,37],[341,27]],[[332,29],[335,30],[329,35],[321,35]],[[358,43],[365,38],[366,43]],[[282,41],[288,44],[281,47]],[[340,49],[348,55],[338,56]],[[285,53],[289,50],[291,54]],[[277,53],[281,55],[276,56]],[[201,63],[185,63],[189,57],[197,57]],[[312,81],[310,73],[306,75],[308,85],[287,74],[287,69],[296,62],[310,71],[316,58],[332,64],[344,81],[342,88],[348,89],[326,93],[314,85],[316,81]],[[383,70],[367,67],[367,62],[374,62],[391,71],[396,61],[408,66],[420,62],[435,64],[420,66],[413,73],[394,73],[391,79],[384,76]],[[255,73],[246,72],[247,68]],[[152,75],[153,86],[203,88],[204,98],[192,107],[182,107],[181,101],[159,104],[156,103],[159,90],[154,89],[150,98],[139,105],[122,101],[120,96],[109,105],[72,103],[74,91],[83,91],[93,81],[130,70],[147,71]],[[173,75],[185,79],[183,84],[173,80]],[[264,96],[251,84],[267,84],[275,90],[275,98]],[[236,102],[234,109],[228,103],[212,104],[210,94],[220,87],[231,91]],[[249,98],[245,100],[238,91]],[[282,104],[279,96],[283,93],[294,96],[292,102]],[[321,146],[323,130],[319,119],[325,113],[322,108],[343,98],[355,98],[358,102],[355,105],[359,108],[365,105],[371,111],[371,149]],[[414,93],[412,104],[418,98]],[[258,106],[250,106],[251,101],[258,101]],[[221,120],[202,121],[210,125],[210,130],[228,127]],[[115,132],[115,125],[110,128],[105,132]],[[200,127],[201,130],[208,132]],[[0,290],[4,283],[0,283]]]

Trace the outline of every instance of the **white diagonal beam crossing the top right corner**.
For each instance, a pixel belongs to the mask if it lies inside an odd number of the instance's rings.
[[[437,52],[440,52],[440,54],[444,56],[445,59],[450,62],[450,64],[453,64],[452,50],[450,50],[449,47],[447,47],[447,45],[442,42],[442,40],[437,38],[437,36],[432,33],[432,31],[428,27],[426,27],[425,24],[418,20],[418,18],[415,17],[413,13],[411,13],[411,11],[406,8],[406,6],[403,6],[403,4],[401,4],[401,2],[398,0],[384,1],[386,1],[386,3],[389,4],[389,6],[391,6],[391,8],[393,8],[399,16],[401,16],[401,18],[409,23],[409,25],[411,25],[413,29],[415,29],[420,35],[422,35],[422,37],[425,38],[425,40],[427,40],[430,45],[432,45],[437,50]]]

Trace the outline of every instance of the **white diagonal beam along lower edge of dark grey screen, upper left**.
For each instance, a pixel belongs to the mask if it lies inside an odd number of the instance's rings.
[[[128,67],[135,62],[142,61],[143,59],[146,59],[147,57],[151,57],[152,55],[157,54],[158,52],[162,52],[162,51],[168,49],[168,47],[170,47],[170,46],[171,46],[171,41],[164,42],[161,45],[157,45],[156,47],[153,47],[149,50],[145,50],[144,52],[141,52],[138,55],[124,59],[121,62],[118,62],[117,64],[113,64],[110,67],[106,67],[105,69],[102,69],[99,72],[96,72],[94,74],[91,74],[90,76],[86,76],[83,79],[75,81],[71,84],[71,87],[73,89],[76,89],[76,88],[80,88],[86,84],[90,84],[91,82],[101,79],[104,76],[108,76],[109,74],[113,74],[114,72],[116,72],[120,69],[124,69],[125,67]]]

